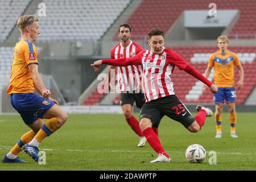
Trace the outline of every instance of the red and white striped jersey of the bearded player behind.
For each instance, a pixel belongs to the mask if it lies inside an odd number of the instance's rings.
[[[111,59],[129,58],[143,51],[139,44],[130,40],[127,47],[123,47],[121,43],[117,44],[111,50]],[[137,90],[139,82],[142,80],[142,65],[129,65],[126,67],[117,67],[117,80],[121,91]]]

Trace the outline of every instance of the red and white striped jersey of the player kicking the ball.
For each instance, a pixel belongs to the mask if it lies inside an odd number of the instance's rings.
[[[102,60],[102,63],[120,65],[119,60],[116,61]],[[123,62],[126,65],[143,65],[142,87],[146,102],[174,94],[172,72],[174,72],[175,66],[184,69],[188,65],[180,55],[166,48],[163,48],[159,55],[155,55],[149,50],[142,51]]]

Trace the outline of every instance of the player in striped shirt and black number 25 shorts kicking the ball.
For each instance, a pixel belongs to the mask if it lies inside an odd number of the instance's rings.
[[[180,122],[187,130],[196,133],[204,125],[205,117],[213,114],[209,108],[197,105],[198,113],[193,117],[187,107],[179,101],[175,96],[171,80],[174,68],[178,67],[202,81],[212,93],[216,93],[218,87],[191,67],[179,54],[164,48],[164,32],[162,30],[152,29],[148,32],[148,38],[150,50],[141,51],[138,55],[127,59],[98,60],[92,66],[95,71],[98,71],[101,64],[143,65],[142,87],[146,103],[142,106],[140,127],[147,142],[158,153],[158,158],[152,160],[151,163],[171,162],[170,156],[164,151],[152,127],[158,127],[160,120],[164,115],[167,115],[169,118]]]

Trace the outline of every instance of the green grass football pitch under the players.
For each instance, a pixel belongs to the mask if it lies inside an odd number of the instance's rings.
[[[195,115],[195,114],[193,114]],[[135,114],[138,118],[138,114]],[[157,154],[146,143],[138,148],[138,137],[119,114],[69,115],[67,123],[40,144],[46,152],[46,165],[35,163],[22,151],[27,164],[3,164],[0,170],[255,170],[255,113],[237,114],[237,134],[229,137],[228,114],[223,114],[222,138],[216,139],[214,118],[207,118],[199,133],[190,133],[180,123],[164,117],[159,138],[171,156],[171,163],[154,163]],[[28,131],[19,115],[0,115],[0,157]],[[205,147],[207,157],[201,164],[190,164],[185,150],[190,144]],[[217,164],[208,163],[209,151],[216,151]]]

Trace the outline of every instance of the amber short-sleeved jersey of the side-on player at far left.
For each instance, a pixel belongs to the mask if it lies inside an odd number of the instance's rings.
[[[7,94],[34,93],[34,81],[28,65],[38,64],[36,47],[28,40],[20,40],[14,48],[13,65]]]

